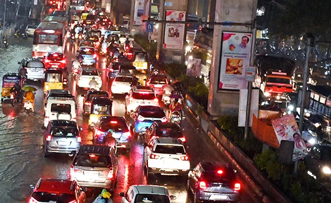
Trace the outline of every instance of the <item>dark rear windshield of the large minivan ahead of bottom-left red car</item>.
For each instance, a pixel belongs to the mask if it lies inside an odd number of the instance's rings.
[[[94,154],[78,155],[74,161],[74,165],[77,166],[107,167],[111,164],[107,156]]]

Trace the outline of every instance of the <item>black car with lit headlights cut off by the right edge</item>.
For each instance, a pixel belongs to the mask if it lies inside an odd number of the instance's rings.
[[[315,179],[331,182],[331,145],[313,146],[305,157],[308,174]]]

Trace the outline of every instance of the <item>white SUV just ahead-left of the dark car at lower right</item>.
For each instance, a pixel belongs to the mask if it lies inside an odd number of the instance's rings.
[[[190,163],[185,145],[174,138],[152,138],[144,149],[145,174],[187,176]]]

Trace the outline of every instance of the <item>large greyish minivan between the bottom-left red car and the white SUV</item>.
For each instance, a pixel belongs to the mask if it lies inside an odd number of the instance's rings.
[[[82,145],[73,159],[70,178],[83,187],[114,191],[117,179],[116,149],[105,145]]]

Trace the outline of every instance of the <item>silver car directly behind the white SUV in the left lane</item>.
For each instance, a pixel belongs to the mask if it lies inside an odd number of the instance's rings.
[[[44,134],[44,157],[50,153],[62,153],[73,155],[78,151],[81,144],[81,137],[77,123],[68,120],[51,120],[45,129]]]

